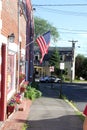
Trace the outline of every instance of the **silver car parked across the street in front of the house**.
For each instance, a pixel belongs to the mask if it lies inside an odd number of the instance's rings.
[[[46,77],[41,77],[40,82],[60,83],[61,79],[57,78],[56,76],[46,76]]]

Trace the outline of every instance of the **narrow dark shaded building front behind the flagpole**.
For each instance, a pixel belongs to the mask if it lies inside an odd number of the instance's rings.
[[[26,80],[33,80],[33,57],[34,57],[34,19],[33,8],[29,0],[26,6],[27,24],[26,24]]]

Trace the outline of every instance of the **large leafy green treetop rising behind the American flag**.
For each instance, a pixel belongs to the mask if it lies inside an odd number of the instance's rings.
[[[39,17],[34,18],[35,23],[35,39],[39,36],[44,34],[47,31],[51,31],[51,38],[54,42],[58,40],[59,33],[56,27],[52,26],[48,21],[41,19]]]

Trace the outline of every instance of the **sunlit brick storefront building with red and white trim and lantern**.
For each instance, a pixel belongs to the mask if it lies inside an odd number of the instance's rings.
[[[7,118],[7,103],[19,90],[20,72],[25,74],[28,6],[30,11],[30,0],[0,0],[0,120]]]

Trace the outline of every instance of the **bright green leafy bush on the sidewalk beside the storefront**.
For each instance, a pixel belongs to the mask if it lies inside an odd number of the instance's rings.
[[[27,91],[24,94],[26,98],[29,98],[31,100],[39,98],[41,95],[42,93],[39,90],[32,88],[31,86],[27,86]]]

